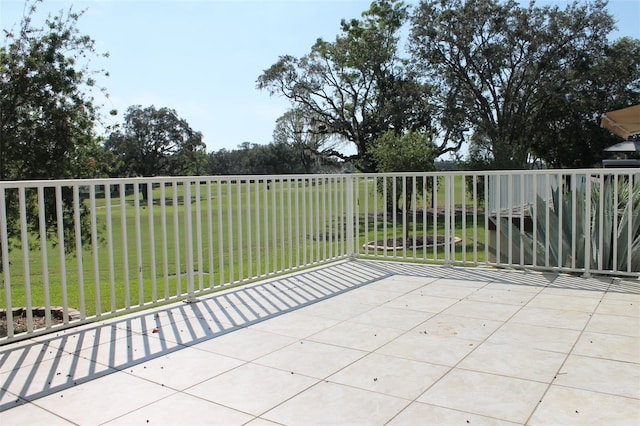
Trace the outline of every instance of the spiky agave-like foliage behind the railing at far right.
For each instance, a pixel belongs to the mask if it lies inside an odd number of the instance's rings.
[[[587,210],[589,184],[592,185],[591,208]],[[630,253],[630,270],[640,270],[640,216],[637,213],[640,211],[640,182],[636,180],[630,185],[626,177],[607,176],[602,185],[599,181],[589,184],[577,185],[572,189],[575,194],[552,189],[550,204],[539,195],[535,210],[533,206],[527,207],[528,216],[536,215],[535,239],[533,231],[519,229],[501,218],[503,236],[508,238],[509,232],[514,236],[511,240],[514,252],[522,250],[525,259],[533,261],[535,250],[538,265],[544,264],[548,257],[552,266],[571,268],[574,263],[577,268],[613,270],[616,267],[622,271],[629,266]],[[495,218],[491,220],[495,223]],[[588,259],[585,243],[591,247]]]

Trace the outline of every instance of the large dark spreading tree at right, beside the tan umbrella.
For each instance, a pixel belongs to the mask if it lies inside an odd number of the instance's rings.
[[[579,127],[602,136],[594,129],[600,108],[625,102],[637,88],[637,72],[616,82],[615,61],[604,59],[613,28],[601,0],[565,10],[513,0],[428,0],[414,16],[411,51],[437,88],[443,125],[468,127],[488,143],[479,152],[488,147],[494,167],[523,168],[536,157],[561,158],[547,150],[558,137],[575,149],[585,133]],[[613,56],[637,64],[634,52]],[[603,66],[606,73],[597,75]],[[612,84],[628,86],[625,99]],[[607,102],[588,105],[590,97]]]

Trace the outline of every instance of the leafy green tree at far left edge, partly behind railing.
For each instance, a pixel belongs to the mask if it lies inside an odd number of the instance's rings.
[[[0,180],[64,179],[95,177],[100,156],[94,124],[99,119],[92,90],[95,77],[90,59],[98,56],[94,41],[79,33],[82,13],[72,9],[49,16],[41,27],[34,22],[36,2],[25,5],[17,28],[3,28],[0,50]],[[53,230],[56,201],[45,190],[45,226]],[[26,193],[27,227],[39,235],[38,203]],[[64,220],[73,223],[73,194],[62,193]],[[20,232],[17,194],[5,194],[9,238]],[[81,207],[83,209],[84,207]],[[81,212],[81,226],[86,211]],[[65,239],[74,238],[74,227],[65,227]],[[82,232],[87,241],[88,229]],[[55,241],[55,232],[49,238]],[[71,248],[72,245],[67,244]]]

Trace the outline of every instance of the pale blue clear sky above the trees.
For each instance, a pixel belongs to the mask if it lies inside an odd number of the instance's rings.
[[[543,5],[551,0],[538,1]],[[409,1],[408,3],[415,3]],[[565,0],[555,3],[562,6]],[[48,13],[86,10],[79,30],[96,42],[94,69],[109,98],[100,98],[106,124],[122,123],[131,105],[174,109],[202,132],[207,152],[243,142],[268,144],[286,99],[256,88],[282,55],[309,53],[318,38],[335,39],[340,20],[358,18],[370,0],[44,0]],[[610,0],[613,38],[640,38],[640,1]],[[0,0],[0,27],[17,26],[23,0]],[[3,41],[4,42],[4,41]],[[111,117],[112,109],[118,115]]]

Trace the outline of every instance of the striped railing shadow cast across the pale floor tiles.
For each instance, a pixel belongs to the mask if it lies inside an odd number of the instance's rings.
[[[393,272],[365,262],[326,265],[9,344],[0,351],[0,412],[292,312]]]

